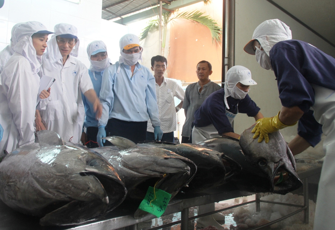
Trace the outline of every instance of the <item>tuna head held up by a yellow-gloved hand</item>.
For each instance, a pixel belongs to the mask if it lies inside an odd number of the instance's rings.
[[[242,132],[239,145],[249,164],[261,177],[264,191],[286,194],[302,186],[293,154],[279,131],[269,133],[269,142],[253,139],[255,125]]]

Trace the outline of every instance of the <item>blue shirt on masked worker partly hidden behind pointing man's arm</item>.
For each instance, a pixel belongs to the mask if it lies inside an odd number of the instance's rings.
[[[102,82],[102,72],[95,71],[95,77],[93,76],[92,71],[89,69],[88,74],[90,75],[90,78],[93,83],[94,91],[96,91],[97,96],[99,98],[100,96],[100,89],[101,89],[101,82]],[[98,120],[96,120],[96,113],[93,111],[93,104],[88,101],[84,94],[81,95],[83,98],[84,106],[85,106],[85,121],[84,121],[84,127],[98,127]]]

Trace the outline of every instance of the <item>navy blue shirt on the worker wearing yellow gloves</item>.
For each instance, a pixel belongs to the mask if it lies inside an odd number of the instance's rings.
[[[321,140],[322,131],[309,112],[314,104],[311,84],[335,90],[335,59],[306,42],[286,40],[272,47],[270,61],[281,104],[298,106],[305,112],[299,121],[298,133],[314,146]]]

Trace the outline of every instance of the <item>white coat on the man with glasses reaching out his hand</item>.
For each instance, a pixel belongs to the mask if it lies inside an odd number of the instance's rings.
[[[61,59],[51,63],[47,56],[43,56],[42,63],[43,74],[56,79],[51,87],[51,100],[40,111],[42,122],[62,140],[79,143],[85,119],[81,93],[93,89],[88,69],[71,55],[64,66]]]

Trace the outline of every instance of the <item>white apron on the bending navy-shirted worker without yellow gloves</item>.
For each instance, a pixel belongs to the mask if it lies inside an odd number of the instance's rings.
[[[238,112],[237,112],[238,113]],[[229,120],[229,123],[232,125],[236,114],[226,110],[226,116]],[[213,124],[205,127],[193,127],[192,129],[192,143],[197,144],[201,141],[204,141],[213,137],[220,137],[218,131],[215,129]]]

